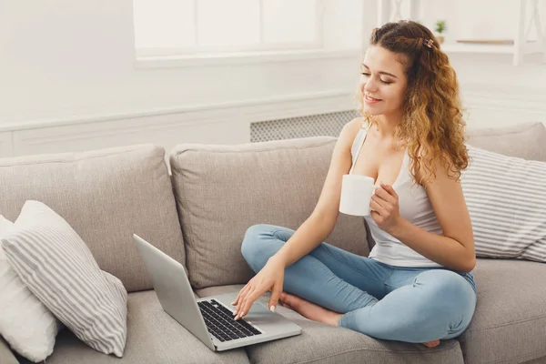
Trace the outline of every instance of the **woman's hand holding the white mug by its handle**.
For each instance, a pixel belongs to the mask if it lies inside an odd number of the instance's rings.
[[[372,210],[371,217],[383,231],[391,234],[399,225],[399,197],[392,186],[381,183],[371,197],[369,207]]]

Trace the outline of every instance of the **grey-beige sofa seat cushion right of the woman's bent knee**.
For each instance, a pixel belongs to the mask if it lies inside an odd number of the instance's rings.
[[[479,258],[478,302],[458,338],[465,363],[521,363],[546,356],[546,264]]]

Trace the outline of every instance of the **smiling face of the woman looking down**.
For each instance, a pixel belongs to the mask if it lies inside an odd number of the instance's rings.
[[[370,45],[360,74],[364,111],[372,116],[401,114],[407,86],[398,57],[379,45]]]

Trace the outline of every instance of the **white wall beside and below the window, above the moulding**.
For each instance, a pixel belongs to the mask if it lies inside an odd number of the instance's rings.
[[[0,123],[347,88],[355,62],[135,69],[131,0],[2,6]]]

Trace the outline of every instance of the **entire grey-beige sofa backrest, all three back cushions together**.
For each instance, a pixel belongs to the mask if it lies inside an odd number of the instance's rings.
[[[471,146],[546,162],[541,123],[469,128],[467,135]],[[172,177],[165,150],[153,145],[4,158],[0,214],[15,221],[25,200],[44,202],[129,292],[152,288],[133,233],[183,265],[187,260],[196,288],[244,283],[253,275],[240,253],[246,229],[258,223],[299,227],[316,206],[335,143],[317,136],[180,145],[170,155]],[[373,246],[363,219],[344,214],[327,241],[362,256]]]

